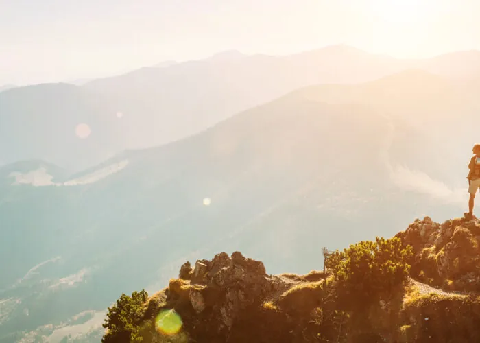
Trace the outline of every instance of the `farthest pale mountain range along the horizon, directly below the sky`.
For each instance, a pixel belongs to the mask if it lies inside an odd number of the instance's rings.
[[[167,61],[83,86],[14,88],[0,93],[0,165],[35,158],[80,171],[125,148],[188,137],[304,86],[368,82],[409,69],[476,80],[480,52],[400,60],[343,45],[291,56],[226,51],[205,60]],[[92,135],[80,141],[75,126],[84,122]],[[45,137],[51,141],[48,146]]]

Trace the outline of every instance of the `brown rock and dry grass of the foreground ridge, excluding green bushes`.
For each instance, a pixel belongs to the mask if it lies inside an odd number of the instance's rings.
[[[151,343],[480,342],[480,222],[438,224],[425,217],[396,237],[402,241],[397,244],[413,248],[411,278],[366,302],[339,296],[346,294],[341,281],[328,270],[269,275],[262,262],[240,252],[222,252],[193,268],[184,263],[178,279],[142,305],[140,319],[134,312],[136,338]],[[346,302],[361,306],[345,307]],[[159,329],[165,311],[181,318],[179,331]]]

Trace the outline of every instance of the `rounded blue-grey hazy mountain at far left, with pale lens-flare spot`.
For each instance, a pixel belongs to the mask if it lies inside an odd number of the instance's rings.
[[[77,170],[124,147],[121,122],[100,96],[69,84],[42,84],[0,93],[0,165],[44,159]],[[91,134],[75,134],[85,123]]]

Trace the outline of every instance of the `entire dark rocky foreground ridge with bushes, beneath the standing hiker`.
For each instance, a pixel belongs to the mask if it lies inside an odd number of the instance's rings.
[[[270,275],[261,261],[221,252],[194,267],[185,262],[151,297],[122,294],[108,309],[102,342],[474,342],[479,243],[478,220],[424,217],[392,239],[324,248],[324,270],[305,275]],[[432,252],[438,269],[425,257]],[[432,277],[446,277],[444,289],[415,280]]]

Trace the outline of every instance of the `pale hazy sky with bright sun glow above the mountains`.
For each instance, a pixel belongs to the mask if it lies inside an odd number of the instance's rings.
[[[125,73],[236,49],[480,50],[479,0],[0,0],[0,86]]]

